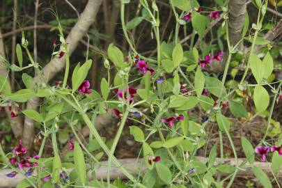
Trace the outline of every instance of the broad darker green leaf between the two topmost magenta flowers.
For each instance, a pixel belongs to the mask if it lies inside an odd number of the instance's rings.
[[[205,36],[205,27],[207,26],[207,17],[193,11],[191,21],[193,28],[198,32],[198,35],[203,38],[203,36]]]

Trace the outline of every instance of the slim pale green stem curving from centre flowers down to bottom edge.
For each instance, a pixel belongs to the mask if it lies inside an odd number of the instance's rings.
[[[116,146],[118,145],[118,141],[120,140],[120,136],[123,133],[123,127],[125,126],[125,121],[127,119],[129,111],[125,111],[123,114],[123,119],[121,120],[120,126],[118,127],[118,132],[116,133],[115,139],[113,140],[113,145],[111,146],[111,151],[108,159],[108,168],[107,168],[107,182],[108,182],[108,187],[111,186],[110,182],[110,174],[111,174],[111,160],[112,157],[114,156],[114,152],[116,150]]]

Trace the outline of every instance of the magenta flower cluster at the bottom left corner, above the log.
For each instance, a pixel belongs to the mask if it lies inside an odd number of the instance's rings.
[[[23,157],[26,154],[27,150],[22,146],[22,140],[19,141],[19,146],[16,146],[13,149],[13,157],[9,159],[9,162],[13,166],[19,167],[19,169],[30,168],[25,175],[30,176],[33,172],[33,167],[38,166],[37,162],[30,162],[29,159],[36,159],[38,160],[40,157],[36,155],[34,157]],[[6,174],[9,178],[15,177],[17,175],[16,171]]]

